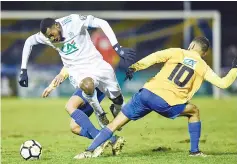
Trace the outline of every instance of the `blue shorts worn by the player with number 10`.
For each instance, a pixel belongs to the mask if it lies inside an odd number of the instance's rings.
[[[170,106],[164,99],[143,88],[122,108],[122,112],[130,120],[138,120],[152,111],[175,119],[184,111],[185,107],[186,104]]]

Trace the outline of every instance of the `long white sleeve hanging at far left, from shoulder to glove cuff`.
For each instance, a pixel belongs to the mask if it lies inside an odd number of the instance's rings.
[[[21,69],[26,69],[28,59],[32,50],[32,46],[37,44],[44,44],[44,42],[40,39],[39,33],[31,35],[25,41],[25,45],[22,51],[22,62],[21,62]]]

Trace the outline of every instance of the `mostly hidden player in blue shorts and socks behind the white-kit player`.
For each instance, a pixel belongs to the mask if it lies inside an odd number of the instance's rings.
[[[54,78],[51,84],[44,90],[42,97],[48,97],[49,94],[67,78],[68,72],[63,68],[61,72]],[[98,88],[96,88],[96,91],[98,101],[101,102],[104,99],[105,94]],[[114,104],[111,105],[111,112],[114,116],[116,116],[118,113],[116,113],[117,111],[113,110],[113,105]],[[99,130],[95,128],[89,119],[94,110],[90,106],[89,102],[83,97],[81,89],[76,89],[72,97],[68,100],[65,108],[68,114],[72,117],[70,123],[72,133],[86,137],[88,139],[94,139],[98,135]],[[103,127],[103,124],[100,123],[97,114],[96,117],[99,125]],[[112,136],[107,142],[98,147],[98,153],[100,153],[100,151],[108,145],[112,146],[113,155],[118,155],[124,145],[124,139],[123,137]]]

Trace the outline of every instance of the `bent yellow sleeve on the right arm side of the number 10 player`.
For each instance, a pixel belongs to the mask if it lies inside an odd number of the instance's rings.
[[[235,81],[236,77],[237,68],[232,68],[225,77],[221,78],[208,67],[207,72],[204,75],[206,81],[222,89],[228,88]]]

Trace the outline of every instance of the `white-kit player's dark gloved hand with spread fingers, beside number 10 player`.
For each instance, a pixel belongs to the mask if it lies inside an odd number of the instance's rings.
[[[128,60],[133,64],[133,61],[136,58],[136,52],[134,49],[121,47],[118,43],[114,45],[113,48],[121,58]]]

